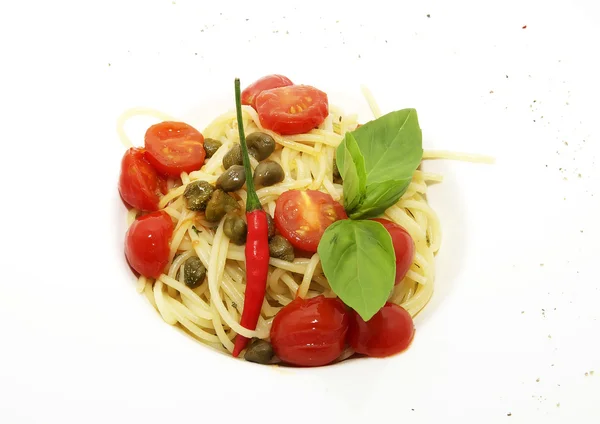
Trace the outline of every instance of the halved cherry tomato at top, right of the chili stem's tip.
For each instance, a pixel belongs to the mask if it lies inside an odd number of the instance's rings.
[[[279,134],[304,134],[329,115],[327,94],[309,85],[265,90],[256,98],[263,127]]]

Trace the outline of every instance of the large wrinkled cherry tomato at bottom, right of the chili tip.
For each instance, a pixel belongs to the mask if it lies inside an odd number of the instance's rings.
[[[348,311],[341,300],[297,298],[275,316],[271,344],[284,362],[318,367],[341,355],[347,332]]]

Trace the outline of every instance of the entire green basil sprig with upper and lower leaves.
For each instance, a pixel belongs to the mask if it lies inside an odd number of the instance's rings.
[[[423,157],[417,111],[403,109],[346,133],[336,151],[349,220],[330,225],[319,242],[323,272],[342,301],[368,321],[394,288],[392,238],[378,222],[406,191]]]

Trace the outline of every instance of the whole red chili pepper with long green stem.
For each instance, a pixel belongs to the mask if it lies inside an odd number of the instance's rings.
[[[254,188],[252,168],[248,157],[248,146],[244,135],[242,120],[242,103],[240,101],[240,80],[235,79],[235,106],[237,111],[238,131],[244,170],[246,171],[246,220],[248,235],[246,237],[246,292],[244,294],[244,310],[240,324],[248,330],[255,330],[267,288],[269,273],[269,225],[267,214],[262,209]],[[235,338],[233,356],[237,357],[246,347],[248,339],[241,334]]]

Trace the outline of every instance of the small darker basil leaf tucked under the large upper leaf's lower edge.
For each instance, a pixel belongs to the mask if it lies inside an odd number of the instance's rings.
[[[411,179],[390,180],[367,186],[367,195],[360,208],[349,212],[351,219],[367,219],[381,216],[387,208],[395,205],[406,191]]]

